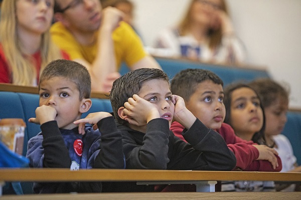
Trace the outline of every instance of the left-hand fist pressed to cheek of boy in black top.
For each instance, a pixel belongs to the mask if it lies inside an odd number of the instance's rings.
[[[137,94],[128,98],[124,103],[123,112],[128,117],[124,120],[133,125],[145,125],[154,118],[160,118],[160,113],[155,104],[148,102]]]

